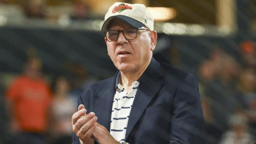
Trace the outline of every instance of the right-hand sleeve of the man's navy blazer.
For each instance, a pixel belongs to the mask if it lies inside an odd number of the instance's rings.
[[[203,144],[204,118],[197,80],[192,74],[178,85],[173,108],[170,144]]]

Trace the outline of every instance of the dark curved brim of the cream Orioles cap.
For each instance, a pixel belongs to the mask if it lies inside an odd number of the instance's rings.
[[[136,28],[140,28],[145,26],[143,23],[134,20],[133,18],[130,18],[128,16],[124,16],[124,15],[116,15],[116,16],[111,16],[109,17],[102,25],[101,31],[102,32],[106,32],[108,30],[108,25],[110,24],[110,22],[113,20],[113,18],[119,18],[127,23],[129,23],[130,25],[132,25],[133,27]]]

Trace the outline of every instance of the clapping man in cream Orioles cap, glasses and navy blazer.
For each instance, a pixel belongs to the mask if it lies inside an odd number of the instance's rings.
[[[102,32],[118,71],[79,97],[73,144],[201,144],[197,81],[152,57],[157,33],[146,7],[114,3]]]

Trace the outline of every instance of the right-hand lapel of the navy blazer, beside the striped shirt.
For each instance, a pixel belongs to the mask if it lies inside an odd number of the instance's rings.
[[[162,86],[162,76],[163,73],[161,71],[160,64],[152,58],[148,68],[141,77],[132,105],[132,110],[130,111],[125,139],[127,139],[134,125]]]

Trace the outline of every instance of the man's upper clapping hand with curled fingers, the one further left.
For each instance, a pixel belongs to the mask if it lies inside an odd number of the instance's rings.
[[[94,112],[86,114],[84,105],[79,105],[78,111],[72,116],[72,127],[74,133],[79,137],[81,144],[93,144],[92,133],[96,129],[97,117]]]

